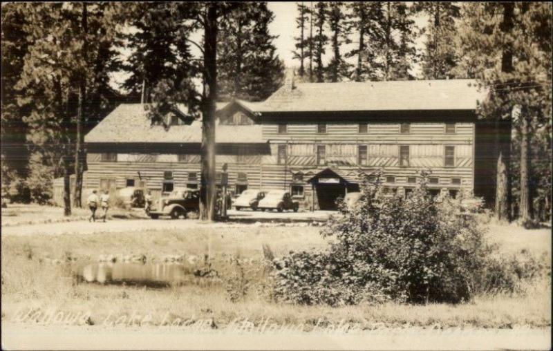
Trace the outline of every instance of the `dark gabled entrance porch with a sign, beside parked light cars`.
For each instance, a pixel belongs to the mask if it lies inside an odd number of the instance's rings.
[[[317,198],[319,209],[326,211],[336,211],[338,198],[343,199],[346,193],[359,191],[359,184],[346,180],[330,168],[317,173],[308,183],[314,190],[314,198]]]

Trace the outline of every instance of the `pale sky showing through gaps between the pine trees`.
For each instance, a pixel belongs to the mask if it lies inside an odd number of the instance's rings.
[[[308,5],[308,1],[305,2],[306,5]],[[297,2],[296,1],[268,1],[268,8],[274,13],[274,21],[270,23],[269,30],[271,35],[277,35],[277,38],[274,39],[273,44],[277,48],[277,54],[281,59],[283,59],[284,64],[287,68],[299,67],[299,61],[296,59],[293,59],[293,51],[295,49],[295,41],[294,37],[299,35],[299,29],[296,28],[296,17],[299,15],[299,11],[297,10]],[[415,25],[419,28],[422,28],[424,26],[424,23],[427,21],[427,19],[423,17],[417,17],[415,18]],[[196,35],[192,36],[191,39],[194,39],[196,42],[201,41],[201,33],[196,33]],[[350,50],[350,47],[354,44],[350,45],[344,45],[341,47],[341,52],[346,53],[348,50]],[[421,49],[424,45],[424,37],[419,37],[417,41],[415,42],[415,46],[418,47],[418,49]],[[199,57],[199,50],[195,46],[191,46],[191,51],[193,55],[196,57]],[[327,55],[324,57],[323,61],[324,64],[328,62],[330,59],[330,50],[326,50]],[[122,50],[122,58],[129,55],[128,50]],[[355,61],[355,57],[352,58],[352,60]],[[307,61],[305,62],[307,64]],[[412,74],[418,75],[420,73],[420,68],[418,66],[415,66],[413,70],[411,71]],[[113,73],[111,76],[111,86],[113,88],[120,90],[120,84],[124,82],[124,80],[128,77],[128,74],[126,73]]]

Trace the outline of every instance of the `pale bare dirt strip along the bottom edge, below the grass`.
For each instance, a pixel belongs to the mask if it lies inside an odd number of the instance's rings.
[[[550,350],[551,329],[382,329],[342,333],[2,324],[3,350]]]

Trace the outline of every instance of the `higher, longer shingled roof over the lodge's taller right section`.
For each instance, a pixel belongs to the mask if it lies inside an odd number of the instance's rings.
[[[255,112],[474,110],[483,99],[474,79],[299,83],[283,86]]]

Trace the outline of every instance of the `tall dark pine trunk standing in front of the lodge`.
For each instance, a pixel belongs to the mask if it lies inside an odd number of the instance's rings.
[[[200,218],[215,218],[215,100],[216,100],[216,45],[217,3],[209,3],[204,24],[204,93],[202,99],[202,144]]]

